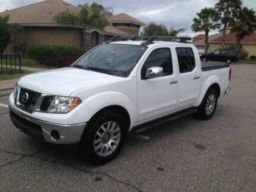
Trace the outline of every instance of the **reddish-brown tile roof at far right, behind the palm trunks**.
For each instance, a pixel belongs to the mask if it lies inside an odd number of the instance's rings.
[[[216,39],[211,40],[210,42],[222,42],[222,36]],[[236,33],[228,33],[226,34],[225,38],[226,43],[236,43],[237,42],[237,36]],[[241,43],[244,44],[256,44],[256,29],[254,30],[254,33],[250,36],[246,36],[241,40]]]

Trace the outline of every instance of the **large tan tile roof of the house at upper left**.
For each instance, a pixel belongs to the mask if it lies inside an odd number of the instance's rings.
[[[0,13],[1,16],[10,15],[8,23],[15,24],[54,24],[56,13],[65,10],[79,12],[80,7],[73,6],[62,0],[45,0]]]

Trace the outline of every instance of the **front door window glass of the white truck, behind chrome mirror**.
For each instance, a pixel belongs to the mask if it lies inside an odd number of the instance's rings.
[[[173,74],[173,63],[172,63],[172,57],[170,55],[169,48],[155,49],[154,51],[151,52],[151,54],[147,57],[142,67],[142,70],[141,70],[142,79],[145,78],[146,71],[152,67],[163,68],[163,76]]]

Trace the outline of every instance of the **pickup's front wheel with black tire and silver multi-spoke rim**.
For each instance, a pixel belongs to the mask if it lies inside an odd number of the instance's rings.
[[[126,134],[124,120],[118,113],[99,112],[84,129],[80,153],[93,164],[108,163],[121,151]]]

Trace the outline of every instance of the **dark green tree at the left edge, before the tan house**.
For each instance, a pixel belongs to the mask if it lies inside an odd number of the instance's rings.
[[[0,16],[0,54],[4,53],[5,48],[11,42],[11,33],[22,31],[19,25],[8,24],[9,15]]]

